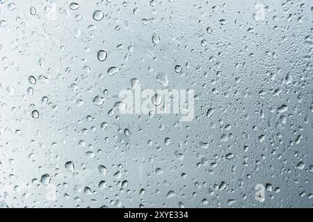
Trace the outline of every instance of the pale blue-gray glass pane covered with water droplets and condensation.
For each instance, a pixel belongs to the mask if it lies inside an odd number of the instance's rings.
[[[312,207],[312,7],[0,0],[0,206]],[[134,79],[193,121],[108,114]]]

